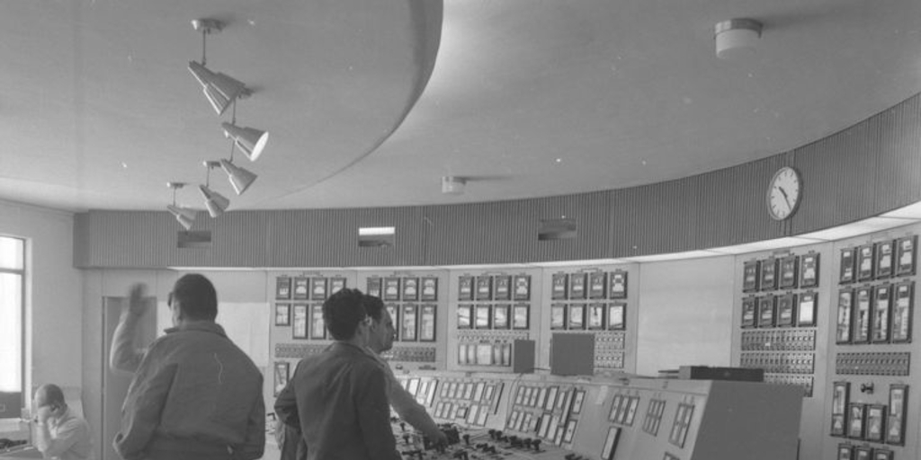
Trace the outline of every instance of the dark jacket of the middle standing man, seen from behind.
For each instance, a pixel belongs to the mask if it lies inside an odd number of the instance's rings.
[[[292,384],[309,459],[400,458],[384,374],[365,351],[336,342],[300,362]]]

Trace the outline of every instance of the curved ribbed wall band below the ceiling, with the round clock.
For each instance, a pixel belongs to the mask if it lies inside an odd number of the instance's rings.
[[[765,212],[778,167],[803,177],[799,211]],[[793,151],[629,189],[459,205],[202,214],[210,248],[178,248],[166,212],[75,216],[77,268],[362,267],[616,259],[730,246],[846,224],[921,201],[921,98]],[[542,219],[577,236],[539,241]],[[395,226],[393,247],[358,247],[359,226]]]

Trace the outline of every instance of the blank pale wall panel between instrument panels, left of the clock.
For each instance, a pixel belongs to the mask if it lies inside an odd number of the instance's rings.
[[[731,256],[639,265],[636,374],[730,365],[734,268]]]

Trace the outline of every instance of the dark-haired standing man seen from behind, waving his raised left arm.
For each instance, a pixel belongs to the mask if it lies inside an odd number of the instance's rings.
[[[173,328],[134,349],[146,288],[131,289],[115,329],[113,369],[134,372],[113,446],[125,460],[253,460],[265,448],[262,374],[215,322],[217,294],[200,274],[169,293]]]

